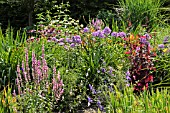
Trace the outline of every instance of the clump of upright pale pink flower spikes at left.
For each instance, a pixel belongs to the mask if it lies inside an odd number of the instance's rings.
[[[17,65],[17,91],[14,89],[14,96],[21,95],[21,97],[24,97],[26,93],[38,92],[41,97],[49,98],[53,104],[58,103],[61,99],[64,93],[63,81],[60,78],[60,73],[56,74],[55,66],[53,67],[53,75],[50,75],[44,52],[44,46],[42,46],[41,60],[38,60],[35,52],[32,52],[32,65],[30,68],[28,49],[25,49],[25,61],[22,61],[22,66]]]

